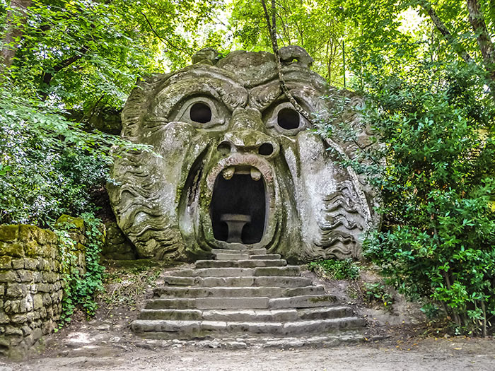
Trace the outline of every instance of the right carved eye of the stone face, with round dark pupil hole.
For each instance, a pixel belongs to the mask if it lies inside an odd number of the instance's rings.
[[[269,129],[275,129],[280,134],[293,136],[307,126],[304,117],[296,111],[290,102],[276,105],[264,114],[264,121]]]

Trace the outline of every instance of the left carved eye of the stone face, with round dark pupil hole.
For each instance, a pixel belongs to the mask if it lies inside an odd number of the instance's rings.
[[[230,117],[225,105],[213,97],[195,96],[177,106],[177,113],[170,116],[170,121],[187,122],[197,129],[217,129],[225,126]]]

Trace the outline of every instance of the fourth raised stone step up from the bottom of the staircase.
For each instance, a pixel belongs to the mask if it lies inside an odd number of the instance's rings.
[[[289,297],[301,295],[323,295],[322,285],[304,286],[301,288],[281,288],[269,286],[248,287],[170,287],[164,286],[153,290],[159,298],[252,298],[259,296]]]

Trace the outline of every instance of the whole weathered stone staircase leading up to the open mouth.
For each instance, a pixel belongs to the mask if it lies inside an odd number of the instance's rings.
[[[134,333],[168,339],[284,338],[365,325],[351,307],[302,277],[299,266],[288,266],[266,249],[239,247],[214,250],[214,260],[196,261],[194,269],[168,272],[132,322]]]

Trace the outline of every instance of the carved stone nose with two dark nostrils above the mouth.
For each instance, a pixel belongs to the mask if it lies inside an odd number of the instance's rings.
[[[225,134],[217,149],[223,155],[240,152],[272,158],[279,153],[279,145],[263,131],[264,125],[259,111],[237,109],[232,115],[230,131]]]

